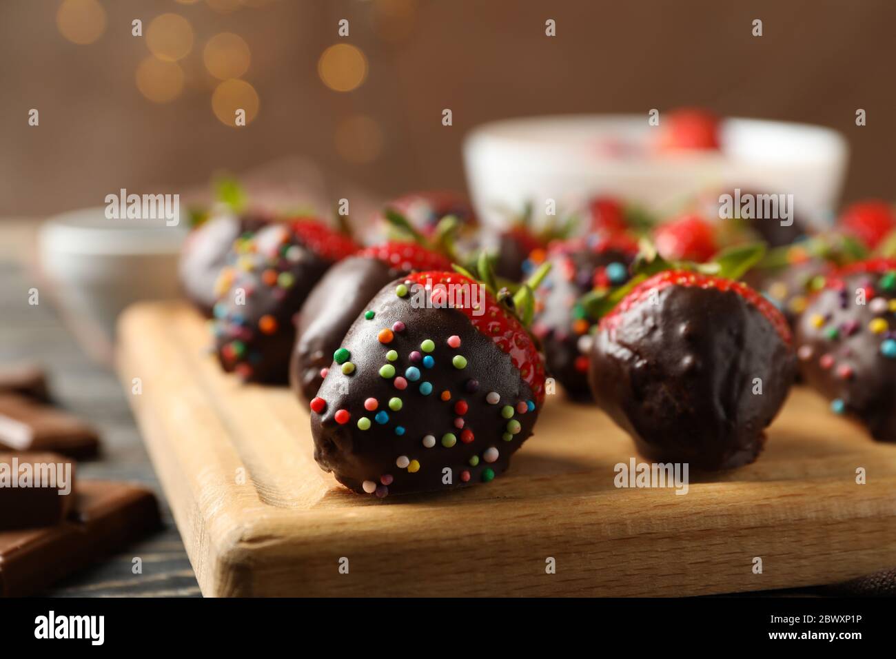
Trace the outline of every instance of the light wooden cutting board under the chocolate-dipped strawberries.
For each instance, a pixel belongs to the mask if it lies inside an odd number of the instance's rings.
[[[207,343],[179,302],[120,322],[119,374],[128,392],[140,378],[134,412],[206,595],[689,595],[896,566],[896,446],[803,388],[755,464],[691,473],[684,496],[617,489],[631,440],[554,395],[503,477],[375,499],[314,463],[289,389],[240,384]]]

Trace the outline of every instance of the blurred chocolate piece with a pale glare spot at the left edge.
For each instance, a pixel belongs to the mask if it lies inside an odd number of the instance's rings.
[[[0,448],[53,451],[82,460],[97,455],[99,436],[64,410],[20,395],[0,395]]]

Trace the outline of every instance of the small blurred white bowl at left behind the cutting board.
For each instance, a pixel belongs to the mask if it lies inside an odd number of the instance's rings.
[[[116,316],[142,299],[178,297],[185,222],[109,220],[105,207],[66,212],[40,228],[42,273],[66,314],[111,337]]]

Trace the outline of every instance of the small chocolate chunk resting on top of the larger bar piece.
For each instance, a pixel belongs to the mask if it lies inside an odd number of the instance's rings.
[[[74,463],[56,453],[0,453],[0,531],[56,525],[74,502]]]

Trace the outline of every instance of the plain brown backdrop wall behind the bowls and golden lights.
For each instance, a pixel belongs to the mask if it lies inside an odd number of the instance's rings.
[[[244,0],[245,2],[246,0]],[[889,0],[100,0],[108,15],[95,43],[56,29],[50,0],[0,2],[0,214],[41,215],[103,203],[120,187],[164,192],[203,184],[216,169],[241,171],[305,154],[383,195],[464,185],[462,136],[500,117],[646,112],[702,105],[720,114],[832,126],[852,147],[846,198],[891,198],[896,151]],[[230,0],[235,6],[239,0]],[[159,105],[134,70],[148,55],[131,36],[159,13],[192,22],[184,93]],[[369,62],[357,90],[327,89],[324,48],[349,42]],[[556,20],[556,38],[544,34]],[[764,36],[751,36],[761,18]],[[250,126],[222,125],[202,45],[219,31],[252,50],[245,79],[261,98]],[[145,34],[145,32],[144,32]],[[40,126],[28,126],[39,108]],[[454,125],[441,125],[452,108]],[[855,126],[865,108],[868,126]],[[336,126],[363,113],[383,131],[366,164],[334,148]]]

